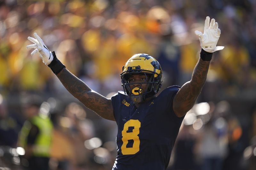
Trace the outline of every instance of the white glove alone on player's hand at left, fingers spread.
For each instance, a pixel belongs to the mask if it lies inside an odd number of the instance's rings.
[[[43,40],[36,33],[34,33],[34,36],[36,39],[28,37],[28,40],[35,44],[28,45],[27,48],[36,48],[32,51],[31,55],[38,54],[45,65],[50,64],[53,60],[52,52],[45,46]]]

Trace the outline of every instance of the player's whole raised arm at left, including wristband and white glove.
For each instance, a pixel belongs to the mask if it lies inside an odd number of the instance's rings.
[[[43,40],[34,33],[35,38],[28,37],[29,41],[34,42],[27,48],[36,48],[31,55],[38,54],[43,63],[51,68],[60,82],[76,99],[81,101],[85,107],[93,110],[100,117],[115,121],[111,99],[93,91],[82,80],[69,72],[65,66],[57,59],[54,52],[48,50]]]

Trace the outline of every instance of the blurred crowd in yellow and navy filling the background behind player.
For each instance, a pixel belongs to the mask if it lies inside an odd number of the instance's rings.
[[[81,106],[30,55],[28,36],[36,32],[68,70],[110,97],[122,90],[122,66],[136,53],[159,61],[162,89],[189,81],[200,51],[194,31],[203,32],[210,16],[219,23],[218,45],[225,48],[213,55],[169,169],[255,169],[255,9],[255,0],[0,0],[0,167],[28,166],[22,152],[16,153],[20,149],[9,153],[6,147],[18,146],[29,95],[42,98],[40,112],[53,122],[52,169],[111,169],[116,156],[115,122]]]

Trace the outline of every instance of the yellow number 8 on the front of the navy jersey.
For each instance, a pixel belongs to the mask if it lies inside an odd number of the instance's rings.
[[[132,132],[127,132],[129,127],[134,127]],[[140,151],[140,121],[139,120],[129,120],[124,123],[124,130],[122,131],[122,141],[123,145],[121,146],[123,155],[135,154]],[[133,140],[133,145],[131,148],[127,148],[128,140]]]

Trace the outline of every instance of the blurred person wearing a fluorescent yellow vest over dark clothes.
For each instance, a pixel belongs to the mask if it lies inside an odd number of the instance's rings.
[[[48,115],[40,113],[40,101],[29,96],[24,107],[27,118],[21,128],[18,146],[25,149],[29,170],[48,170],[53,125]]]

